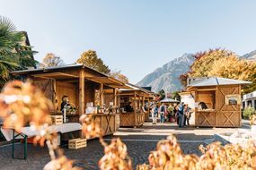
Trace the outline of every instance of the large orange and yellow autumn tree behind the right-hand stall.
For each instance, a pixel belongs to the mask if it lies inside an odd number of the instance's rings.
[[[180,81],[186,86],[189,77],[223,77],[241,81],[252,81],[244,88],[245,93],[256,89],[256,64],[240,59],[234,52],[225,49],[210,49],[194,55],[195,62],[190,71],[181,74]]]

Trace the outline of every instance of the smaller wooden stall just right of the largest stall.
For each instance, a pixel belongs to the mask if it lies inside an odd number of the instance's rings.
[[[132,84],[127,84],[127,86],[129,89],[119,89],[119,126],[142,126],[145,118],[148,119],[149,102],[153,99],[154,93]]]

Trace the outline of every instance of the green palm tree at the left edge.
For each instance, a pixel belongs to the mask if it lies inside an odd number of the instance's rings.
[[[24,43],[24,32],[16,31],[12,21],[0,16],[0,87],[10,79],[10,72],[34,66],[34,51]]]

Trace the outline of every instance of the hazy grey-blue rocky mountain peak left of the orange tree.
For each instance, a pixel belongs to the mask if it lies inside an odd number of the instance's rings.
[[[181,57],[175,58],[154,72],[147,74],[144,79],[137,83],[137,86],[151,86],[154,92],[161,89],[164,89],[165,92],[180,90],[182,86],[179,76],[188,72],[193,62],[194,57],[192,54],[181,55]]]

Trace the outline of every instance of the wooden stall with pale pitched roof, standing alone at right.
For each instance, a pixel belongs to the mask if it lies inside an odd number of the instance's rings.
[[[188,90],[195,100],[195,125],[241,126],[241,88],[250,81],[225,78],[190,78]]]

